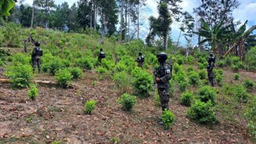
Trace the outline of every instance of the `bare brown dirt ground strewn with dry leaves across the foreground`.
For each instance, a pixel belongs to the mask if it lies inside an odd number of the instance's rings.
[[[53,77],[37,75],[37,79]],[[161,108],[154,97],[139,99],[126,113],[116,103],[119,96],[112,81],[98,81],[95,74],[85,73],[74,84],[75,89],[38,85],[36,101],[28,99],[26,89],[0,84],[0,143],[112,143],[114,137],[121,143],[252,143],[244,127],[222,118],[213,126],[188,120],[180,92],[169,103],[175,124],[163,130],[157,124]],[[97,101],[92,115],[83,112],[88,99]]]

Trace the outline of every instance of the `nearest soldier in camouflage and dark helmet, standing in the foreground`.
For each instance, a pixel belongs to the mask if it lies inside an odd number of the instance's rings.
[[[154,82],[158,84],[161,108],[164,111],[165,109],[169,109],[169,80],[171,79],[172,66],[165,62],[167,60],[167,54],[165,52],[158,53],[157,58],[160,66],[156,69]],[[162,121],[160,120],[158,123],[162,124]]]

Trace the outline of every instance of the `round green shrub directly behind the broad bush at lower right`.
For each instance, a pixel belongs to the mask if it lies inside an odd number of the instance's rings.
[[[203,102],[211,101],[215,105],[215,99],[217,97],[216,91],[211,86],[203,86],[198,90],[198,99]]]

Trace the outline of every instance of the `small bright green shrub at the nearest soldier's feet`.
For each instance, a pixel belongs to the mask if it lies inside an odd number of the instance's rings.
[[[163,128],[167,130],[170,128],[170,126],[173,125],[174,115],[173,113],[171,113],[171,111],[165,109],[165,111],[163,111],[163,114],[161,115],[161,120],[163,120]]]

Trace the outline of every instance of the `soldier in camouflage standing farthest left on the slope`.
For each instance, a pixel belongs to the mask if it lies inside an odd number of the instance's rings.
[[[43,56],[43,50],[39,47],[40,43],[35,42],[35,48],[32,52],[32,67],[33,72],[35,73],[35,67],[37,65],[38,73],[41,72],[41,56]]]

